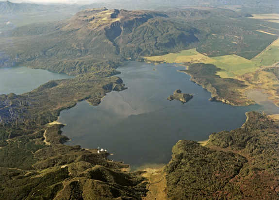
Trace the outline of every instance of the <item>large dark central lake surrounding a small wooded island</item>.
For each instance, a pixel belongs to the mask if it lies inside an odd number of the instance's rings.
[[[129,89],[110,92],[98,106],[82,101],[61,112],[59,122],[67,124],[63,134],[71,139],[66,144],[106,149],[114,154],[110,159],[132,168],[166,164],[178,140],[206,140],[213,132],[241,127],[247,111],[266,109],[209,101],[211,94],[177,71],[181,69],[185,67],[125,63],[117,70]],[[176,89],[194,98],[185,104],[166,100]]]

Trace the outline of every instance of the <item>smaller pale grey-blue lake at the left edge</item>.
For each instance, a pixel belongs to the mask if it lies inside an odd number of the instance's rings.
[[[72,76],[28,67],[0,67],[0,94],[23,94],[36,89],[43,83]]]

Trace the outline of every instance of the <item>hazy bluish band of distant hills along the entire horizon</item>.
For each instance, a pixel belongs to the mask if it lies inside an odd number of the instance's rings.
[[[157,10],[157,11],[177,11],[187,7],[203,6],[208,8],[225,8],[233,11],[248,12],[250,14],[278,13],[279,3],[277,0],[114,0],[104,1],[88,5],[79,4],[35,4],[35,3],[12,3],[10,1],[0,1],[0,15],[20,14],[23,12],[53,11],[66,9],[68,12],[78,12],[84,9],[107,7],[108,9],[129,9],[129,10]]]

